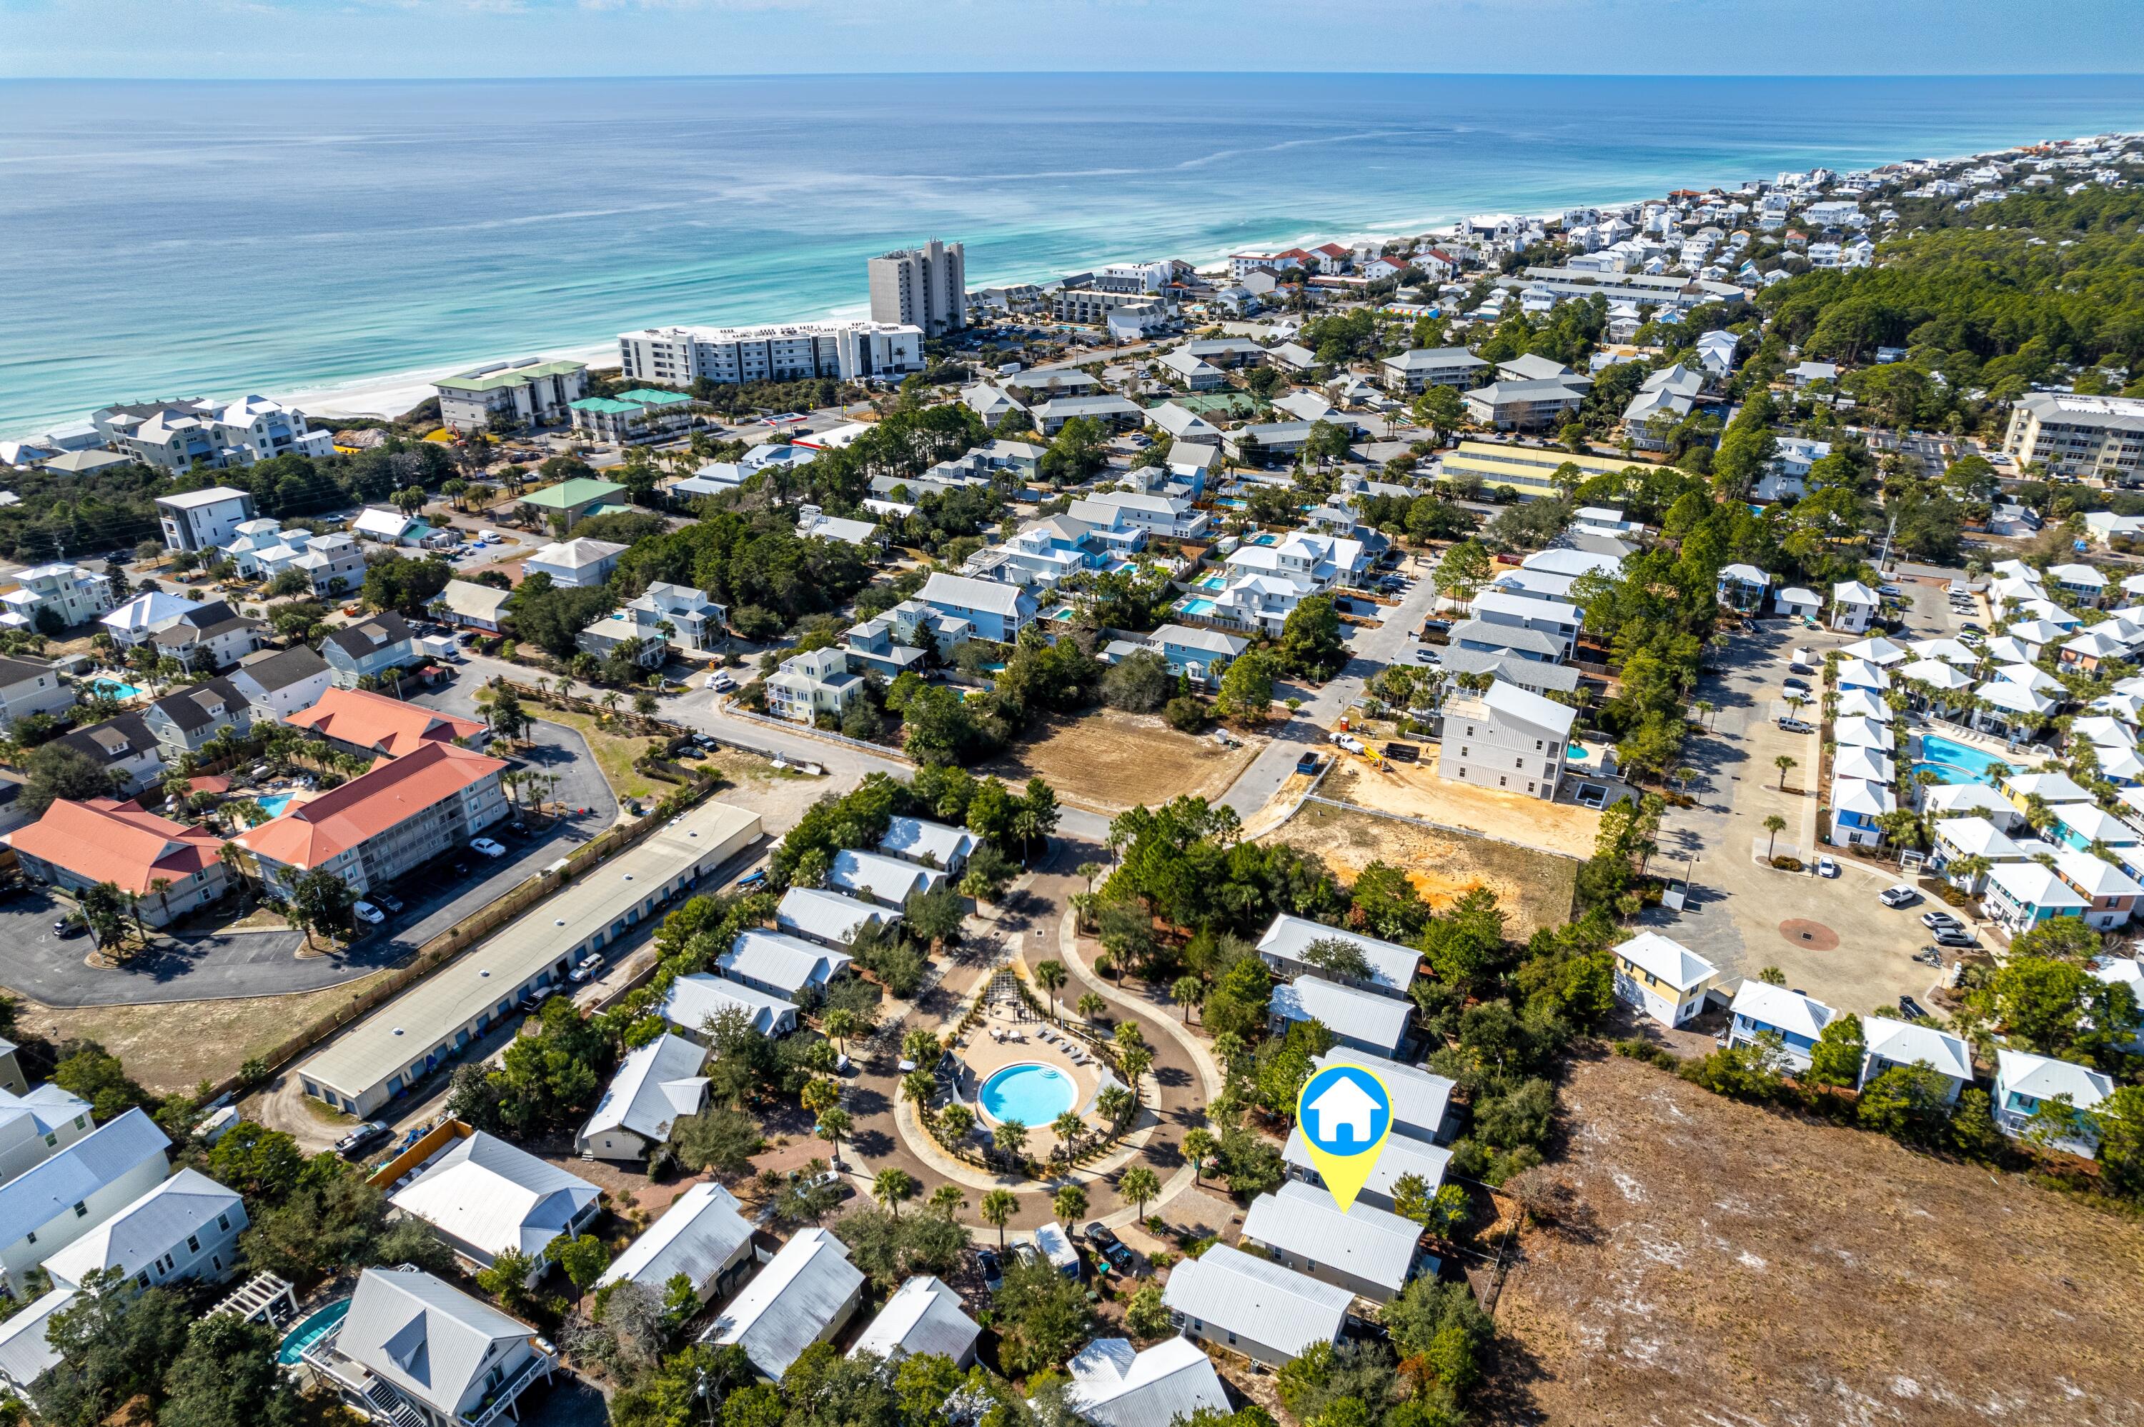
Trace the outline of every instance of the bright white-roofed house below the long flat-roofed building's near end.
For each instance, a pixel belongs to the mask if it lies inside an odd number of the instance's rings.
[[[388,1193],[388,1204],[440,1230],[470,1273],[506,1251],[536,1260],[560,1234],[579,1234],[600,1213],[600,1189],[482,1129],[467,1129]]]

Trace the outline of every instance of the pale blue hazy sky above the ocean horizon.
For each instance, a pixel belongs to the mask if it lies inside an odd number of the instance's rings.
[[[2144,71],[2144,0],[0,0],[0,77]]]

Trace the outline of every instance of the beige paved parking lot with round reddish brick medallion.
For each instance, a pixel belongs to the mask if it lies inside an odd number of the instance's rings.
[[[1902,643],[1955,634],[1964,621],[1951,613],[1942,579],[1900,581],[1900,591],[1906,632],[1895,639]],[[1692,876],[1689,906],[1683,913],[1655,908],[1644,921],[1719,966],[1728,992],[1743,977],[1777,966],[1788,986],[1835,1009],[1867,1013],[1878,1005],[1895,1007],[1902,994],[1927,1005],[1938,981],[1934,966],[1912,960],[1932,941],[1921,926],[1930,904],[1889,908],[1878,896],[1902,881],[1895,863],[1814,846],[1818,735],[1777,726],[1777,718],[1790,714],[1782,688],[1788,654],[1805,647],[1820,666],[1825,654],[1857,639],[1767,619],[1756,634],[1734,634],[1717,669],[1698,686],[1698,699],[1715,705],[1711,728],[1685,748],[1685,763],[1700,773],[1692,786],[1698,806],[1668,812],[1653,859],[1655,872]],[[1812,675],[1807,684],[1820,679]],[[1816,722],[1814,701],[1803,718]],[[1780,756],[1795,758],[1784,788]],[[1803,861],[1829,853],[1840,876],[1762,866],[1758,859],[1771,838],[1765,818],[1773,814],[1786,821],[1780,853]]]

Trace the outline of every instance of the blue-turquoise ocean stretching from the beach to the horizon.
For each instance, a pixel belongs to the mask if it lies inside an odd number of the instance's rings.
[[[0,81],[0,433],[860,313],[933,236],[982,287],[2140,126],[2138,75]]]

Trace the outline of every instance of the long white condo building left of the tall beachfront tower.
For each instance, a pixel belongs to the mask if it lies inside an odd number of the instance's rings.
[[[626,377],[690,386],[898,377],[924,369],[922,328],[885,321],[787,321],[759,328],[645,328],[617,334]]]

